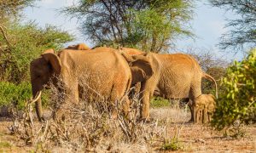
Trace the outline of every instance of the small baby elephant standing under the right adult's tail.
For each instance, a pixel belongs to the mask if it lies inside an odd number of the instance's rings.
[[[215,97],[212,94],[201,94],[195,98],[195,102],[193,104],[193,117],[195,123],[200,122],[200,117],[203,123],[210,122],[215,108]]]

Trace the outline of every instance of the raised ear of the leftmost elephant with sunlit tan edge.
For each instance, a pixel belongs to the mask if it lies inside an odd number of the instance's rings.
[[[45,50],[42,56],[50,63],[56,74],[61,73],[61,59],[55,54],[53,49]]]

